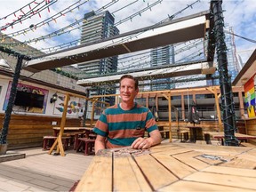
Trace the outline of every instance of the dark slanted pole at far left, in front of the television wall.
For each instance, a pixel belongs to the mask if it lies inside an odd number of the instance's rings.
[[[10,98],[8,100],[7,108],[6,108],[5,114],[4,114],[4,124],[3,124],[3,129],[2,129],[2,132],[0,135],[0,144],[7,144],[7,134],[8,134],[8,129],[9,129],[9,123],[11,120],[12,107],[13,107],[14,99],[16,96],[17,85],[18,85],[18,80],[20,78],[20,69],[22,66],[23,58],[24,58],[24,55],[18,55],[17,65],[16,65],[13,79],[12,79]]]

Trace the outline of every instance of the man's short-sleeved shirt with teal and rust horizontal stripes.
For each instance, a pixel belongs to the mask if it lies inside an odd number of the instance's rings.
[[[131,110],[123,110],[119,104],[106,108],[95,124],[93,132],[106,137],[107,148],[131,146],[145,130],[157,130],[154,116],[148,108],[135,103]]]

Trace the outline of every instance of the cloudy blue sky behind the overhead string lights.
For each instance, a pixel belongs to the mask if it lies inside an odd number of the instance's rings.
[[[0,0],[1,2],[1,17],[15,12],[17,14],[21,13],[20,8],[32,2],[32,0]],[[43,2],[43,0],[36,0],[36,3]],[[52,2],[52,0],[50,1]],[[74,4],[75,0],[59,0],[55,4],[50,7],[50,12],[48,10],[44,10],[39,14],[31,17],[31,19],[24,20],[21,23],[18,23],[13,26],[13,28],[7,28],[4,31],[5,34],[12,34],[15,31],[21,30],[22,28],[29,28],[31,24],[35,25],[42,20],[47,18],[51,18],[54,14],[63,11],[65,8]],[[80,3],[86,2],[85,0],[81,0]],[[28,32],[25,36],[15,36],[21,42],[29,39],[36,38],[38,36],[44,36],[49,34],[52,31],[58,30],[59,28],[63,28],[68,26],[70,23],[75,22],[76,20],[82,19],[85,12],[97,11],[102,8],[103,5],[112,2],[111,0],[98,0],[98,1],[88,1],[84,3],[76,10],[72,12],[68,12],[65,16],[62,16],[50,23],[49,25],[45,25],[42,28],[36,28],[36,30]],[[157,3],[157,0],[116,0],[116,4],[113,4],[108,7],[109,12],[115,12],[115,20],[116,22],[119,20],[124,20],[129,15],[132,15],[135,12],[139,12],[143,8],[147,8],[149,4]],[[159,3],[161,2],[161,3]],[[153,6],[151,9],[148,9],[145,12],[141,12],[140,15],[132,18],[132,20],[127,20],[123,24],[118,25],[120,33],[124,33],[127,31],[131,31],[137,28],[143,28],[149,25],[154,25],[160,20],[164,20],[168,16],[176,12],[180,12],[183,8],[185,8],[188,4],[192,4],[196,2],[196,0],[163,0],[159,1],[158,4]],[[130,5],[129,5],[130,4]],[[36,4],[30,4],[30,6],[35,6]],[[176,18],[182,16],[188,16],[190,14],[196,12],[202,12],[205,10],[209,10],[210,1],[209,0],[201,0],[199,3],[193,5],[192,8],[188,8],[184,12],[177,15]],[[122,8],[122,9],[121,9]],[[239,36],[244,36],[247,38],[251,38],[255,40],[256,35],[256,4],[255,0],[223,0],[222,8],[224,12],[224,20],[226,23],[226,28],[232,27],[235,34]],[[22,9],[22,12],[26,12],[28,10],[28,6]],[[120,11],[116,12],[117,10]],[[17,15],[16,15],[17,16]],[[7,22],[15,20],[14,15],[7,17],[5,20],[0,20],[0,26],[4,26]],[[38,41],[36,44],[31,44],[38,49],[49,48],[52,46],[56,46],[58,44],[63,44],[64,42],[70,42],[71,40],[78,39],[80,37],[80,30],[74,30],[66,36],[57,36],[51,39],[47,39],[46,41]],[[247,60],[252,51],[255,49],[256,45],[246,41],[242,38],[235,37],[236,41],[236,51],[241,54],[243,61]]]

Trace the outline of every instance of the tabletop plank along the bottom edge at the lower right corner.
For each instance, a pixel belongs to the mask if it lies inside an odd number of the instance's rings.
[[[160,188],[159,192],[163,191],[186,191],[186,192],[195,192],[195,191],[232,191],[232,192],[251,192],[255,191],[252,189],[245,188],[234,188],[222,185],[214,185],[208,183],[199,183],[194,181],[184,181],[180,180],[173,183],[172,185]]]

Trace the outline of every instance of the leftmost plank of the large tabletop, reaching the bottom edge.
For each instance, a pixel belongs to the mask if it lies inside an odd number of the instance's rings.
[[[112,158],[94,156],[76,191],[112,191]],[[95,181],[97,180],[97,184]]]

